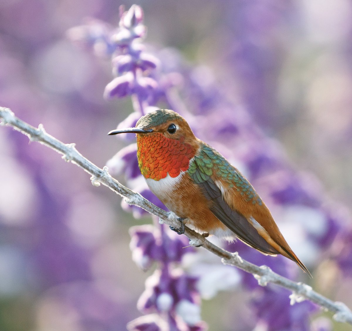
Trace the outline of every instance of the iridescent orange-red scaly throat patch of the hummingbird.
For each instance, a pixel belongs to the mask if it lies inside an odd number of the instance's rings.
[[[177,177],[188,170],[196,151],[196,145],[184,138],[170,139],[158,132],[137,134],[138,165],[145,178],[160,180],[168,174]]]

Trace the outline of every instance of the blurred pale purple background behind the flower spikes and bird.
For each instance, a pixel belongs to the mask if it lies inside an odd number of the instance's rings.
[[[117,25],[119,6],[133,3],[1,0],[0,106],[33,126],[43,123],[103,167],[124,146],[106,133],[132,104],[103,99],[111,61],[75,47],[66,31],[86,17]],[[190,65],[208,66],[227,95],[283,144],[293,167],[314,173],[320,190],[346,206],[338,208],[347,218],[351,2],[135,3],[144,10],[147,43],[174,47]],[[0,129],[0,173],[0,330],[125,330],[140,316],[136,301],[150,274],[131,260],[128,228],[150,219],[134,219],[121,210],[120,197],[93,187],[88,174],[8,127]],[[351,307],[350,285],[347,277],[325,294]],[[246,295],[222,293],[203,303],[210,330],[233,330],[229,300],[233,307]]]

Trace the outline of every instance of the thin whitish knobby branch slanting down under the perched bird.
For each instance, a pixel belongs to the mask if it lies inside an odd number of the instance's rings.
[[[92,176],[90,179],[92,180],[92,184],[94,186],[99,186],[101,183],[109,187],[109,189],[125,198],[126,203],[139,206],[151,214],[159,217],[161,223],[171,225],[175,228],[180,225],[174,213],[166,212],[158,208],[156,205],[143,198],[139,193],[133,192],[126,186],[120,184],[116,179],[111,177],[106,166],[100,169],[92,162],[84,158],[83,155],[80,154],[75,148],[75,144],[64,144],[53,136],[47,134],[42,124],[40,124],[38,128],[34,128],[15,117],[10,109],[3,107],[0,107],[0,119],[1,125],[12,126],[17,131],[27,135],[31,141],[38,141],[40,144],[48,146],[58,153],[63,154],[62,158],[65,161],[76,164]],[[333,312],[333,318],[338,322],[352,324],[352,312],[345,304],[338,301],[334,302],[324,297],[323,295],[315,292],[312,287],[306,284],[301,282],[297,283],[282,277],[273,272],[267,266],[259,267],[253,263],[243,260],[237,252],[231,253],[225,249],[215,246],[213,243],[206,240],[202,235],[196,233],[188,227],[185,227],[184,234],[190,239],[191,243],[196,243],[197,246],[202,244],[202,247],[220,256],[222,263],[236,266],[248,273],[253,274],[253,276],[258,280],[259,285],[266,286],[268,283],[271,283],[289,289],[292,291],[292,294],[290,295],[291,304],[308,299],[321,306],[323,309]]]

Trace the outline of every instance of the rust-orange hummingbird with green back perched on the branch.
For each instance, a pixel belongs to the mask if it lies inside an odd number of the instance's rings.
[[[281,254],[311,276],[281,234],[268,207],[250,182],[214,148],[196,138],[173,110],[142,116],[135,133],[139,169],[150,190],[184,224],[203,236],[239,239],[265,255]]]

